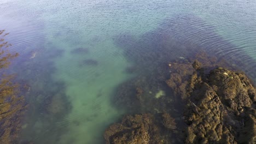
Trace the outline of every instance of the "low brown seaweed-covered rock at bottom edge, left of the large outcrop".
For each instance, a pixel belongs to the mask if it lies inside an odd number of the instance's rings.
[[[125,116],[121,123],[111,125],[104,133],[106,143],[164,143],[160,128],[152,114]]]

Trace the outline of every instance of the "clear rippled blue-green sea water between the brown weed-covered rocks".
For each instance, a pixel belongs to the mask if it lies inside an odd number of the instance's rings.
[[[166,63],[206,51],[255,81],[256,2],[0,2],[0,29],[20,53],[10,73],[30,87],[21,142],[104,143],[127,109],[117,89],[168,74]],[[128,88],[129,89],[129,88]]]

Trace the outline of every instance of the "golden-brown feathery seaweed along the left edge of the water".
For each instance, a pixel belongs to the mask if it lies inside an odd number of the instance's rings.
[[[21,121],[26,110],[24,91],[27,90],[19,83],[15,82],[14,75],[4,74],[4,70],[9,68],[11,59],[18,56],[18,53],[10,53],[8,44],[4,40],[9,33],[0,31],[0,142],[15,143],[20,137]]]

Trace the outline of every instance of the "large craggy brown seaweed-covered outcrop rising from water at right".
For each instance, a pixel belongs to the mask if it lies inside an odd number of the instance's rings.
[[[185,104],[184,142],[256,143],[256,91],[251,81],[221,67],[208,73],[201,65],[177,64],[176,73],[166,81]]]

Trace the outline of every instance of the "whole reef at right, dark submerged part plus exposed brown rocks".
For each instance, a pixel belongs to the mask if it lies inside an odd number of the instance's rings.
[[[106,143],[256,143],[254,59],[229,53],[236,46],[214,27],[180,16],[114,40],[136,76],[116,89],[113,105],[126,116],[106,129]]]

